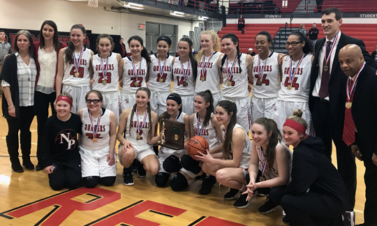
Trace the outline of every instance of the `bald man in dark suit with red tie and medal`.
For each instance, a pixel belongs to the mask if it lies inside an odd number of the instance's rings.
[[[339,51],[339,64],[346,75],[342,92],[331,96],[337,100],[335,115],[343,122],[334,123],[337,136],[365,166],[365,206],[363,226],[377,226],[377,76],[376,69],[364,62],[357,45]]]

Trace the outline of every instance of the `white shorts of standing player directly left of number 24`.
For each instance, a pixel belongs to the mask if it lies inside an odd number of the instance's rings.
[[[242,99],[231,99],[223,97],[223,100],[233,101],[237,105],[237,123],[244,128],[246,133],[251,130],[251,108],[250,108],[250,98]]]

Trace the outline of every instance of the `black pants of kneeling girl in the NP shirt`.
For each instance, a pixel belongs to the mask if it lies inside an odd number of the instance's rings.
[[[81,180],[80,156],[70,160],[53,160],[52,174],[48,174],[50,187],[54,190],[75,189]]]

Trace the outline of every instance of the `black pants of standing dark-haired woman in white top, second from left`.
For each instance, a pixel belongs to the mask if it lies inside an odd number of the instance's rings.
[[[43,165],[42,161],[42,137],[43,128],[48,118],[48,107],[51,107],[52,114],[56,114],[54,108],[54,101],[57,96],[56,92],[50,94],[42,93],[40,91],[34,92],[34,108],[36,110],[37,122],[38,122],[38,142],[37,142],[37,158],[38,165]]]

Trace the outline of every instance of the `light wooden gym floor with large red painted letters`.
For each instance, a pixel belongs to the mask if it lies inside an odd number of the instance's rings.
[[[36,126],[34,119],[31,124],[34,165]],[[235,209],[234,201],[223,199],[228,188],[219,183],[209,195],[198,194],[202,181],[176,193],[169,186],[157,188],[154,176],[149,174],[144,179],[135,174],[135,185],[124,186],[119,163],[114,186],[54,191],[48,186],[45,170],[12,171],[6,148],[8,125],[3,117],[0,128],[0,225],[284,225],[280,207],[272,213],[258,213],[265,197],[256,197],[246,209]],[[363,174],[364,166],[357,160],[356,223],[363,222]]]

